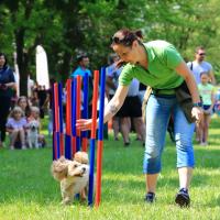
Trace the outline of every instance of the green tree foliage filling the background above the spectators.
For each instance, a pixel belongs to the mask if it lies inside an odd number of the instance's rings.
[[[106,65],[110,37],[121,28],[141,29],[146,41],[167,40],[188,59],[205,45],[218,70],[219,14],[218,0],[2,0],[0,51],[12,62],[16,50],[24,95],[37,44],[47,52],[51,77],[65,80],[79,53],[89,55],[92,69]]]

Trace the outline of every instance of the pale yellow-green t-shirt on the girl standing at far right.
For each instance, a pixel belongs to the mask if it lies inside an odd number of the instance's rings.
[[[211,84],[198,85],[199,95],[202,98],[202,103],[207,106],[211,106],[211,95],[215,92],[215,87]]]

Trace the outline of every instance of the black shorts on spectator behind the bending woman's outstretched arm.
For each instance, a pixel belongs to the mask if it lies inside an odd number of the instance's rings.
[[[117,117],[142,117],[142,105],[140,98],[138,96],[127,97],[121,109],[118,111]]]

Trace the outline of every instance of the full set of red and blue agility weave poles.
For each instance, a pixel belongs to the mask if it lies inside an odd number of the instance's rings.
[[[94,96],[92,96],[92,129],[90,136],[90,172],[89,172],[89,193],[88,205],[94,205],[94,169],[95,169],[95,152],[97,136],[97,102],[99,101],[99,130],[97,146],[97,180],[96,180],[96,207],[100,204],[101,198],[101,166],[102,166],[102,148],[103,148],[103,107],[105,107],[105,85],[106,69],[101,68],[101,86],[99,92],[99,72],[94,73]],[[84,108],[81,110],[81,81],[84,82]],[[76,120],[88,118],[88,88],[89,77],[86,74],[81,80],[80,76],[68,79],[66,82],[66,129],[65,129],[65,148],[64,148],[64,128],[63,128],[63,88],[62,84],[54,84],[53,87],[53,160],[65,155],[72,160],[77,151],[87,151],[88,134],[87,131],[77,131]],[[77,140],[78,139],[78,140]]]

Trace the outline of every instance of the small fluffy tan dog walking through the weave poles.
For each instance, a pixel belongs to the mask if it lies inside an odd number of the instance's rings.
[[[86,199],[89,182],[88,154],[77,152],[74,161],[62,156],[52,164],[52,174],[61,183],[62,204],[69,205],[76,194],[80,194],[81,199]]]

